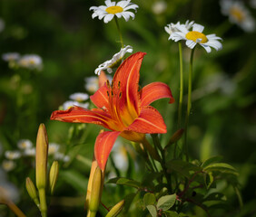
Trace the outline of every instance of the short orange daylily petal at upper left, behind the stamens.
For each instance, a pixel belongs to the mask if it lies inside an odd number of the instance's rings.
[[[99,109],[109,110],[109,97],[107,96],[107,86],[103,85],[97,90],[90,99],[94,102],[94,105]]]

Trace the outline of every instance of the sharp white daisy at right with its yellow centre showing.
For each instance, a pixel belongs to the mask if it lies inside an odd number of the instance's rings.
[[[216,34],[205,35],[202,33],[204,27],[200,24],[192,24],[192,31],[189,31],[182,24],[176,24],[175,28],[177,28],[178,31],[172,33],[170,36],[174,42],[185,40],[186,45],[191,49],[198,43],[206,50],[206,52],[211,52],[211,47],[216,51],[222,49],[222,43],[218,41],[222,40],[222,38],[217,37]]]

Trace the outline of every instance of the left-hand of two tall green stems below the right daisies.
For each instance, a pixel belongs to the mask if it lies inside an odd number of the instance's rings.
[[[178,129],[182,126],[182,101],[183,101],[183,62],[182,62],[182,42],[179,42],[179,57],[180,57],[180,99],[179,99],[179,109],[178,109]],[[173,158],[176,157],[176,148],[178,142],[175,142]]]

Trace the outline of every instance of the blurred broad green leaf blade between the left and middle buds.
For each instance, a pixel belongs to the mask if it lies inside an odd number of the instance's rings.
[[[60,177],[68,184],[72,185],[79,192],[86,192],[88,179],[84,178],[74,170],[66,170],[60,172]]]

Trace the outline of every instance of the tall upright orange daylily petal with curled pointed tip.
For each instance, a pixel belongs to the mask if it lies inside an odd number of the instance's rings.
[[[113,83],[119,84],[122,91],[122,98],[117,101],[120,111],[124,113],[124,116],[132,117],[132,119],[138,116],[138,83],[140,78],[140,68],[143,61],[145,52],[136,52],[128,57],[113,76]],[[125,114],[128,113],[128,114]]]

